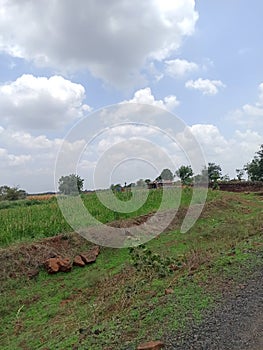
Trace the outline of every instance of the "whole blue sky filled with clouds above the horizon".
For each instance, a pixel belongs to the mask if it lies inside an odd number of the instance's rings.
[[[260,0],[0,0],[0,185],[55,191],[72,171],[92,189],[102,169],[103,187],[192,165],[172,122],[127,124],[107,107],[124,103],[181,120],[200,166],[234,178],[263,143],[262,13]],[[58,172],[63,152],[75,161]]]

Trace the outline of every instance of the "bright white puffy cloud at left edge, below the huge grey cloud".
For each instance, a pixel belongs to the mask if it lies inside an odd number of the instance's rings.
[[[85,89],[61,76],[24,74],[0,85],[2,123],[23,129],[57,129],[91,108],[83,103]]]

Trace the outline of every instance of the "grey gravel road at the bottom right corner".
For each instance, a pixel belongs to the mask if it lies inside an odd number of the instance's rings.
[[[262,255],[262,254],[261,254]],[[167,335],[166,350],[262,350],[263,267],[186,335]]]

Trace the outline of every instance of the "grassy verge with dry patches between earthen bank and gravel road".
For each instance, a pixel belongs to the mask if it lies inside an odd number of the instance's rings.
[[[213,192],[194,227],[165,232],[139,250],[102,248],[69,274],[7,279],[1,286],[1,349],[130,349],[182,332],[262,266],[262,198]],[[153,255],[149,254],[149,251]],[[174,269],[160,277],[170,258]],[[135,261],[136,262],[136,261]],[[171,294],[165,293],[172,289]]]

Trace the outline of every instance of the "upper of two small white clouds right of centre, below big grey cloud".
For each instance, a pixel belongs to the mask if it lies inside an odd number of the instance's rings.
[[[185,74],[198,70],[198,64],[187,60],[175,59],[165,61],[165,72],[167,75],[175,78],[183,77]]]

